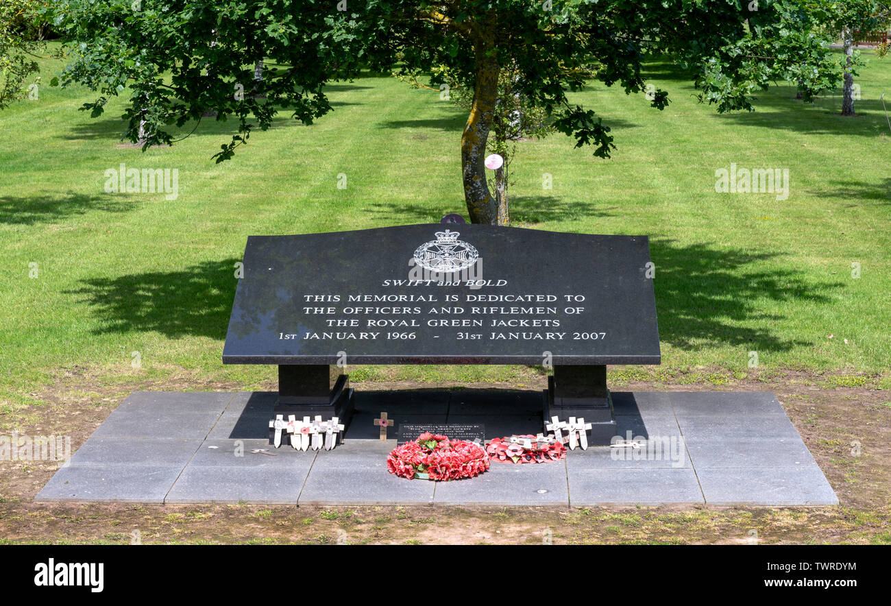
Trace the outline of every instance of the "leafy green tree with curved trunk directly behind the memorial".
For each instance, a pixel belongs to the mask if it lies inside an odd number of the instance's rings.
[[[228,160],[278,111],[307,124],[331,111],[328,82],[363,68],[445,66],[472,90],[461,156],[475,223],[504,219],[484,160],[505,68],[515,74],[515,94],[603,158],[615,149],[609,127],[567,95],[589,79],[640,93],[648,56],[691,70],[700,98],[718,111],[751,110],[753,94],[776,79],[800,81],[811,101],[842,73],[815,33],[831,12],[824,0],[142,0],[139,10],[123,0],[56,2],[60,27],[76,43],[65,81],[100,93],[86,105],[94,115],[130,89],[127,136],[137,141],[143,122],[143,149],[171,143],[170,127],[216,111],[217,120],[238,122],[215,156]],[[258,58],[262,80],[253,78]],[[252,84],[257,94],[238,94]],[[666,92],[650,91],[653,107],[667,102]]]

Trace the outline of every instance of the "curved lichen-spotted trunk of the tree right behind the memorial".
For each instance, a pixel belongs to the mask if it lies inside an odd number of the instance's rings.
[[[503,225],[499,220],[498,201],[486,183],[486,141],[492,113],[498,97],[498,60],[491,45],[476,45],[477,78],[470,116],[461,136],[462,181],[464,201],[471,223]],[[506,219],[506,217],[505,217]]]

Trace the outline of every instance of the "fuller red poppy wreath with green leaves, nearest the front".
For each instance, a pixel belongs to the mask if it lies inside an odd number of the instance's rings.
[[[489,455],[473,442],[425,432],[413,442],[396,446],[387,457],[387,469],[408,479],[473,478],[489,469]]]

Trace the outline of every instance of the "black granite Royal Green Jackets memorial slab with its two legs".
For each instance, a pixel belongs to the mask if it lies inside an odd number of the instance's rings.
[[[660,360],[651,276],[646,236],[458,224],[250,236],[223,361],[279,364],[279,404],[315,414],[349,399],[331,364],[553,366],[546,414],[605,434],[605,364]]]

